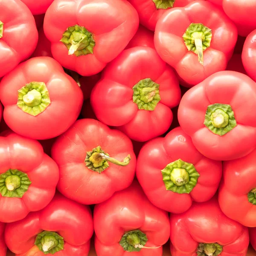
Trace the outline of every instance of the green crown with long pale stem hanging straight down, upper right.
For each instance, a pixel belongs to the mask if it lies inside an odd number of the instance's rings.
[[[203,51],[210,47],[212,30],[202,23],[191,23],[183,35],[184,43],[189,51],[198,55],[198,61],[204,65]]]

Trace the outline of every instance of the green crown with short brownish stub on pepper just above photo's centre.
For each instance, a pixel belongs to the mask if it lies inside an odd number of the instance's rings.
[[[140,80],[132,87],[133,102],[137,104],[138,109],[154,111],[157,103],[160,102],[159,84],[153,82],[150,78]]]

